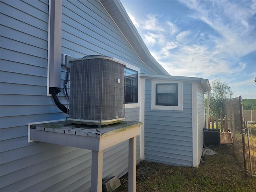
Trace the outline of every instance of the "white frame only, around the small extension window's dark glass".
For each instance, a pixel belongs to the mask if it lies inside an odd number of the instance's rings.
[[[165,105],[156,105],[156,84],[170,84],[178,83],[178,106],[165,106]],[[178,81],[170,80],[152,80],[151,81],[151,109],[152,110],[183,110],[183,83]]]

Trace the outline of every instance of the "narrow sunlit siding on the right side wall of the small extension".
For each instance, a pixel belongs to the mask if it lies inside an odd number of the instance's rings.
[[[204,90],[198,86],[197,90],[197,113],[198,113],[198,160],[203,152],[203,128],[204,128]],[[198,162],[199,164],[199,162]]]

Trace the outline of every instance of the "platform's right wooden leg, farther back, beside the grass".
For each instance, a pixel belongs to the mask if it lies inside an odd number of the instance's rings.
[[[136,136],[129,139],[128,192],[136,192]]]

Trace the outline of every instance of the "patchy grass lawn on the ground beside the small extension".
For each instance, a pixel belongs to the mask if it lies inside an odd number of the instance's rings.
[[[136,192],[256,192],[256,178],[246,178],[231,146],[204,156],[198,168],[142,161],[137,166]],[[115,192],[128,192],[128,174]]]

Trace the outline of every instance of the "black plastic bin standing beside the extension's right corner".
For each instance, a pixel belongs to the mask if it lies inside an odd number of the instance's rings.
[[[204,147],[209,149],[220,148],[220,130],[203,128],[203,131]]]

